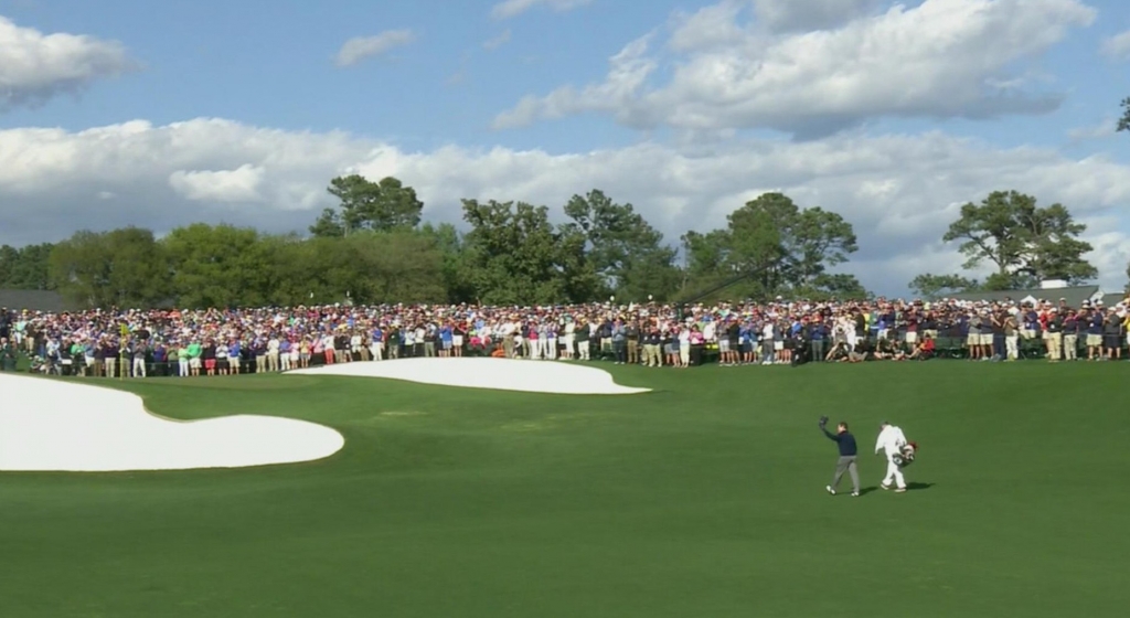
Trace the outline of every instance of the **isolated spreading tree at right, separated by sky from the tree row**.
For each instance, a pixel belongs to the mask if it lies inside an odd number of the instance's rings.
[[[1086,228],[1062,204],[1041,208],[1031,195],[994,191],[980,204],[963,206],[942,240],[962,242],[963,268],[972,270],[985,261],[996,267],[985,281],[988,289],[1032,287],[1044,279],[1078,285],[1098,273],[1083,259],[1093,249],[1078,238]]]

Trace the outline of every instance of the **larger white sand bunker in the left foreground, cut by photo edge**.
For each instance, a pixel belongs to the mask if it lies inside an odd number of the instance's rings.
[[[113,389],[0,374],[0,470],[111,472],[243,468],[328,458],[341,434],[304,420],[177,421]]]

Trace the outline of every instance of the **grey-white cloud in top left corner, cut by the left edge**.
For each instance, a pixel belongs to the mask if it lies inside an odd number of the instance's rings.
[[[66,33],[43,34],[0,16],[0,112],[41,105],[93,81],[137,70],[120,43]]]

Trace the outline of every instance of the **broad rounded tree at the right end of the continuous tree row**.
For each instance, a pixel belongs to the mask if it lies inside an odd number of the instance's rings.
[[[731,212],[727,224],[684,236],[689,277],[710,284],[746,275],[749,281],[734,291],[755,298],[859,286],[828,273],[858,250],[851,224],[836,212],[801,209],[782,193],[765,193]]]

